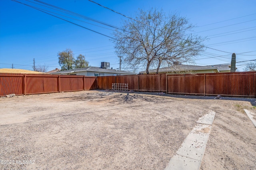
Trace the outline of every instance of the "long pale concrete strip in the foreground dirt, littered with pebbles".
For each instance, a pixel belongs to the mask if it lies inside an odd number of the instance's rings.
[[[172,157],[165,170],[199,170],[212,129],[215,112],[198,119],[180,149]]]

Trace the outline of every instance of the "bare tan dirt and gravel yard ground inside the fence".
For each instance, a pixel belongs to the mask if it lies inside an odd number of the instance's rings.
[[[256,113],[255,101],[96,90],[0,98],[0,169],[162,170],[215,111],[201,169],[254,170],[256,127],[243,109]]]

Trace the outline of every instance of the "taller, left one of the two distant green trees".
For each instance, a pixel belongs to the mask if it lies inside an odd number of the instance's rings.
[[[71,49],[66,49],[62,52],[58,53],[59,64],[61,66],[61,70],[70,70],[74,65],[74,54]]]

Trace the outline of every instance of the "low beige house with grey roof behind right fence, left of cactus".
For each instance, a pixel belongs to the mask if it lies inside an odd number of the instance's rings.
[[[170,67],[163,67],[159,68],[158,72],[177,72],[177,71],[193,71],[193,70],[217,70],[225,71],[230,70],[228,67],[230,64],[218,64],[218,65],[211,65],[211,66],[197,66],[197,65],[186,65],[186,64],[178,64],[175,66]],[[156,72],[156,69],[148,70],[150,73]],[[146,73],[146,71],[142,71],[140,73]]]

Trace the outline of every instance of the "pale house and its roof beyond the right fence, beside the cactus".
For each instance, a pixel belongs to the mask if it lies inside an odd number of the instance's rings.
[[[199,74],[199,73],[215,73],[215,72],[230,72],[230,64],[218,64],[211,66],[196,66],[178,64],[171,67],[159,68],[159,74]],[[155,74],[156,69],[149,70],[149,74]],[[146,71],[140,72],[140,74],[146,74]]]

